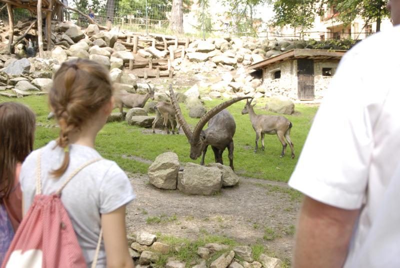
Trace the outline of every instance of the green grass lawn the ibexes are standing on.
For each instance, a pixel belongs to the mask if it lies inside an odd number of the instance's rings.
[[[207,89],[201,90],[207,91]],[[58,137],[59,128],[54,127],[55,120],[47,119],[50,112],[47,96],[32,95],[21,99],[2,97],[0,101],[21,102],[35,112],[36,122],[38,123],[35,133],[35,149]],[[204,101],[204,107],[209,110],[222,101]],[[257,114],[274,114],[260,109],[264,107],[261,99],[256,101],[258,104],[254,109]],[[180,104],[180,106],[187,123],[194,127],[198,119],[188,116],[188,110],[184,104]],[[286,149],[286,155],[279,158],[282,145],[276,135],[265,135],[265,150],[253,153],[255,132],[251,127],[248,115],[241,115],[243,108],[244,102],[235,103],[227,108],[236,122],[236,133],[233,137],[233,165],[236,173],[241,176],[287,182],[294,170],[318,106],[296,104],[295,115],[286,116],[293,124],[290,137],[294,143],[296,155],[294,159],[290,159],[290,149]],[[260,140],[259,147],[261,147]],[[143,133],[142,128],[130,126],[125,121],[105,124],[97,134],[95,149],[103,157],[115,161],[123,170],[132,173],[146,174],[150,164],[130,159],[129,156],[154,161],[161,153],[174,152],[183,164],[186,162],[200,163],[200,158],[196,160],[189,158],[190,146],[184,135],[147,134]],[[225,165],[229,164],[227,154],[228,152],[225,150],[222,155]],[[214,162],[214,156],[212,150],[208,149],[205,155],[205,163],[212,162]]]

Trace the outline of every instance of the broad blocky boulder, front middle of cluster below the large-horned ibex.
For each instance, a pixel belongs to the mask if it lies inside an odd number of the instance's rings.
[[[188,194],[212,195],[222,186],[222,172],[216,167],[186,163],[178,188]]]

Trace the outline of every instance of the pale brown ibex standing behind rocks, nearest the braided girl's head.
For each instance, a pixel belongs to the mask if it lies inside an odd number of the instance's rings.
[[[114,96],[115,98],[114,108],[118,107],[121,113],[122,113],[122,108],[128,108],[128,109],[135,107],[143,108],[148,98],[154,100],[154,90],[151,89],[148,83],[147,86],[148,90],[147,93],[144,95],[129,93],[124,90],[117,92]]]

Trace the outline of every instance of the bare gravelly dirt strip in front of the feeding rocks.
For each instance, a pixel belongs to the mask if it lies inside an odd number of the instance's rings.
[[[218,235],[261,243],[280,259],[290,258],[301,196],[286,183],[240,177],[239,185],[212,196],[162,190],[145,175],[129,174],[137,199],[127,207],[127,230],[160,232],[190,240]]]

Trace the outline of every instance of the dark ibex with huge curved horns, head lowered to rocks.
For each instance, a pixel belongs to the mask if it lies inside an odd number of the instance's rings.
[[[235,102],[249,99],[251,97],[239,97],[227,100],[218,106],[215,106],[203,115],[191,132],[189,125],[184,120],[175,94],[172,90],[172,85],[169,85],[172,105],[175,108],[176,118],[186,135],[190,144],[190,158],[195,160],[202,153],[200,165],[204,165],[204,156],[208,145],[211,145],[214,151],[215,163],[223,164],[222,153],[225,148],[228,148],[229,166],[233,170],[233,135],[236,131],[236,124],[233,116],[225,110],[226,107]],[[208,128],[202,130],[208,122]]]

